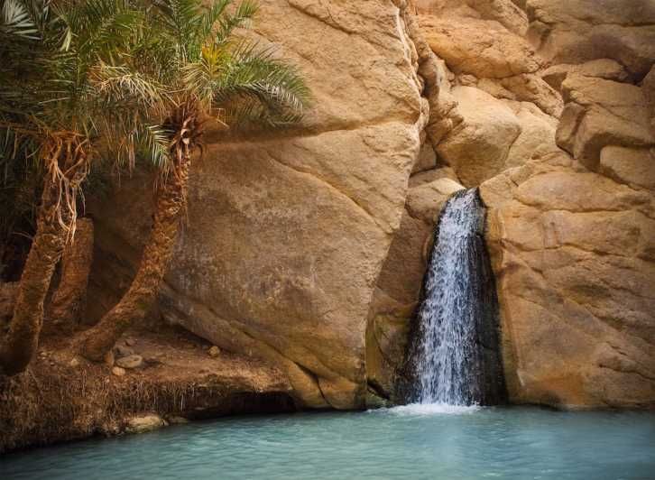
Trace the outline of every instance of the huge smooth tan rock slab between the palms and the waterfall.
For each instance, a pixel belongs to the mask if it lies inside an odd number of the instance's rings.
[[[314,107],[296,131],[209,139],[161,293],[163,318],[281,367],[304,406],[364,405],[367,312],[427,106],[398,4],[261,5],[255,34],[299,66]],[[98,216],[97,289],[127,284],[149,185],[124,179],[120,211]]]

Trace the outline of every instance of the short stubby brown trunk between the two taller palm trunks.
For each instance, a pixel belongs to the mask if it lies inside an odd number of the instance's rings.
[[[88,274],[93,262],[93,221],[80,218],[75,238],[61,259],[61,278],[50,304],[46,328],[71,332],[87,305]]]

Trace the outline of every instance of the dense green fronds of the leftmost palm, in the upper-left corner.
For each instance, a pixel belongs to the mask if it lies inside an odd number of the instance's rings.
[[[0,61],[12,66],[0,71],[4,133],[38,144],[74,132],[133,165],[164,102],[161,84],[134,64],[143,11],[126,0],[0,1]]]

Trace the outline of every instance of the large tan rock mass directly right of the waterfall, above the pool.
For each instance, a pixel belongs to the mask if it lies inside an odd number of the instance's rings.
[[[652,190],[566,154],[481,186],[513,402],[655,402]]]

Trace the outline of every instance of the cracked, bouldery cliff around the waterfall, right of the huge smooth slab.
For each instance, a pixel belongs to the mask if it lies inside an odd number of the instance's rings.
[[[655,404],[654,6],[416,2],[415,42],[447,80],[376,290],[374,390],[392,392],[447,174],[489,208],[511,401]]]

